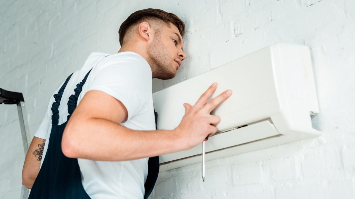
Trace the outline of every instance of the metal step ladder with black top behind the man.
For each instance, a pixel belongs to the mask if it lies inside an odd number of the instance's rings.
[[[29,135],[29,127],[27,122],[26,109],[24,107],[23,95],[19,92],[7,91],[0,88],[0,104],[16,104],[17,106],[24,156],[26,157],[29,144],[31,143],[31,137]],[[22,184],[20,199],[27,199],[28,191],[29,189]]]

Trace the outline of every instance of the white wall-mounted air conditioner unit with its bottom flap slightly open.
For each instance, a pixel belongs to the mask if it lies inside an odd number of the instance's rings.
[[[321,135],[310,115],[319,113],[310,50],[275,44],[153,93],[158,129],[173,130],[217,82],[211,98],[231,89],[212,115],[220,116],[217,133],[206,142],[206,161]],[[201,144],[159,156],[160,171],[200,163]]]

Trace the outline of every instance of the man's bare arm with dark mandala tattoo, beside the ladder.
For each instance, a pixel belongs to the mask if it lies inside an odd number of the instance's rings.
[[[45,140],[39,137],[33,137],[29,145],[26,158],[22,168],[22,181],[24,186],[31,189],[36,179],[39,167],[42,161]]]

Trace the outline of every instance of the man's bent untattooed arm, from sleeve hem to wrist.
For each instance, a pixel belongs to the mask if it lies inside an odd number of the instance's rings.
[[[136,131],[120,125],[127,115],[118,99],[103,91],[88,91],[65,127],[61,143],[64,155],[125,161],[182,150],[172,131]]]

